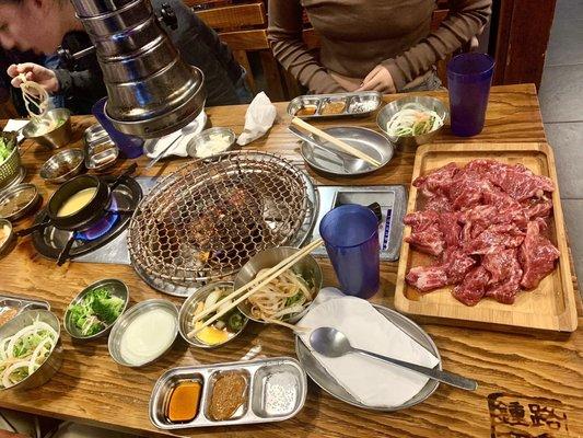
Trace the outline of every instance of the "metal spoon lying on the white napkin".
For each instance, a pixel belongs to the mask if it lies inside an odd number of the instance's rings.
[[[360,353],[362,355],[374,357],[378,360],[410,369],[431,379],[435,379],[442,383],[451,384],[452,387],[460,388],[463,390],[475,391],[476,388],[478,388],[478,383],[475,380],[466,379],[465,377],[457,376],[452,372],[427,368],[417,364],[406,362],[392,357],[378,355],[373,351],[354,348],[350,345],[350,342],[342,332],[339,332],[333,327],[319,327],[313,331],[310,335],[310,345],[312,345],[312,348],[314,348],[317,353],[327,357],[340,357],[347,353]]]

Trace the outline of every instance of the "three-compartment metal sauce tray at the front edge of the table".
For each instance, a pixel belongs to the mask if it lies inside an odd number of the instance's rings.
[[[215,420],[208,415],[212,388],[217,377],[228,371],[238,371],[246,374],[247,401],[235,412],[231,419]],[[289,412],[278,414],[269,412],[266,407],[265,389],[267,378],[273,372],[285,372],[293,380],[290,388],[294,388],[295,404],[293,410]],[[172,390],[180,380],[199,380],[202,383],[199,410],[191,422],[171,423],[165,416],[165,407]],[[149,406],[150,420],[155,427],[166,430],[282,422],[295,416],[301,411],[305,403],[306,391],[306,373],[301,368],[300,362],[290,357],[173,368],[160,377],[152,390]]]

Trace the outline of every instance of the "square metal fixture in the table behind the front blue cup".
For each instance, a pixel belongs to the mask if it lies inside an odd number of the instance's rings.
[[[403,217],[407,210],[407,192],[403,185],[375,186],[317,186],[319,211],[312,239],[319,238],[319,222],[333,208],[345,204],[368,206],[373,203],[381,205],[383,219],[378,228],[381,260],[394,262],[399,258],[403,242]],[[326,249],[319,246],[312,255],[327,257]]]

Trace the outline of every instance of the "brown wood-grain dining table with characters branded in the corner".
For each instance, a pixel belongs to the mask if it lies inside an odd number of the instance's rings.
[[[446,99],[445,93],[434,93]],[[387,96],[394,100],[396,96]],[[269,135],[252,145],[259,150],[277,151],[303,166],[298,143],[287,130],[285,104],[278,104],[281,117]],[[212,125],[230,126],[241,132],[245,106],[208,108]],[[83,128],[93,119],[75,117],[75,142],[81,146]],[[354,124],[375,128],[374,117],[319,123],[318,126]],[[436,142],[459,142],[448,128]],[[486,128],[482,134],[464,140],[471,142],[546,141],[536,91],[533,85],[510,85],[492,89]],[[24,143],[23,162],[27,181],[35,183],[44,199],[55,187],[47,187],[38,177],[40,164],[49,152],[32,142]],[[327,178],[310,174],[319,184],[404,184],[409,185],[415,150],[400,150],[393,161],[375,174],[358,180]],[[138,160],[140,164],[145,158]],[[150,174],[164,174],[182,160],[166,161]],[[119,164],[119,168],[127,163]],[[560,171],[560,170],[559,170]],[[27,224],[24,222],[22,226]],[[20,224],[19,224],[20,227]],[[325,284],[336,283],[325,262]],[[382,265],[382,287],[374,301],[393,307],[397,263]],[[573,270],[574,274],[574,270]],[[0,262],[0,289],[12,293],[40,297],[50,301],[59,318],[71,298],[86,285],[116,277],[130,288],[132,303],[164,297],[148,287],[130,266],[56,263],[35,253],[30,239]],[[576,288],[576,279],[573,275]],[[578,292],[579,297],[579,292]],[[358,410],[336,401],[310,383],[307,402],[300,414],[283,423],[233,428],[190,429],[179,436],[249,436],[249,437],[578,437],[583,436],[583,319],[572,334],[497,333],[423,324],[433,337],[443,358],[443,366],[453,372],[475,378],[476,392],[464,392],[441,385],[425,402],[398,413]],[[187,348],[177,341],[171,353],[158,362],[140,369],[117,366],[108,356],[105,339],[72,343],[62,335],[66,349],[60,371],[45,385],[28,392],[2,392],[0,406],[90,423],[105,428],[161,434],[150,423],[150,392],[163,370],[176,366],[236,360],[249,347],[260,345],[266,356],[294,356],[289,331],[275,326],[249,324],[244,336],[214,350]],[[579,414],[578,414],[579,413]],[[509,424],[526,423],[526,426]],[[514,428],[513,428],[514,427]],[[517,428],[516,428],[517,427]],[[521,428],[522,427],[522,428]],[[557,429],[559,427],[559,429]],[[567,429],[568,428],[568,429]],[[511,435],[511,430],[528,430],[532,435]],[[547,435],[545,435],[547,437]]]

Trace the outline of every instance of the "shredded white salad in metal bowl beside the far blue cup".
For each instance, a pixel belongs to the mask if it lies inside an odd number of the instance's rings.
[[[429,134],[443,126],[444,119],[420,103],[407,103],[386,124],[392,137],[412,137]]]

